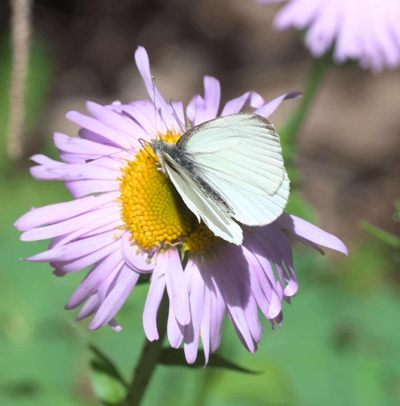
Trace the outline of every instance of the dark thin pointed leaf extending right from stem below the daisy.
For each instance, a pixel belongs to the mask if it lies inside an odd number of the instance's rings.
[[[201,358],[204,359],[204,352],[199,351],[202,355]],[[174,348],[163,348],[159,363],[163,365],[175,365],[180,367],[189,367],[189,368],[202,368],[204,367],[204,362],[199,359],[193,364],[188,364],[185,359],[185,354],[183,349],[179,348],[178,350]],[[250,369],[241,367],[239,365],[234,364],[233,362],[228,361],[224,357],[218,354],[210,354],[209,363],[207,364],[208,367],[217,367],[217,368],[226,368],[232,369],[237,372],[244,372],[246,374],[261,374],[261,371],[251,371]]]

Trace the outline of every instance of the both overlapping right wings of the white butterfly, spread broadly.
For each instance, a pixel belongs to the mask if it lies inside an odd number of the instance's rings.
[[[236,220],[265,225],[282,214],[289,197],[279,136],[254,113],[218,117],[193,127],[176,144],[199,176],[224,197]]]

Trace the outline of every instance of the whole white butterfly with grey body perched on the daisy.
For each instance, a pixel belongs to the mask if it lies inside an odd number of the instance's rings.
[[[243,241],[237,222],[266,225],[286,206],[289,178],[279,136],[264,117],[217,117],[191,128],[176,144],[150,145],[198,221],[228,242]]]

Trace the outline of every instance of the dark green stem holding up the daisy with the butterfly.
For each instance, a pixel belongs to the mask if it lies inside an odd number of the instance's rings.
[[[161,354],[165,333],[167,331],[167,316],[168,299],[167,295],[164,294],[157,314],[159,339],[152,342],[146,339],[139,362],[135,367],[132,383],[128,388],[128,393],[121,403],[121,406],[138,406],[141,403]]]

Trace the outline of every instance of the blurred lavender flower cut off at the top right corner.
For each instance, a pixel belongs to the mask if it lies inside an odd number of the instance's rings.
[[[377,73],[400,65],[399,18],[398,0],[288,0],[274,24],[280,30],[308,28],[305,42],[316,58],[335,41],[335,62],[359,60],[363,69]]]

